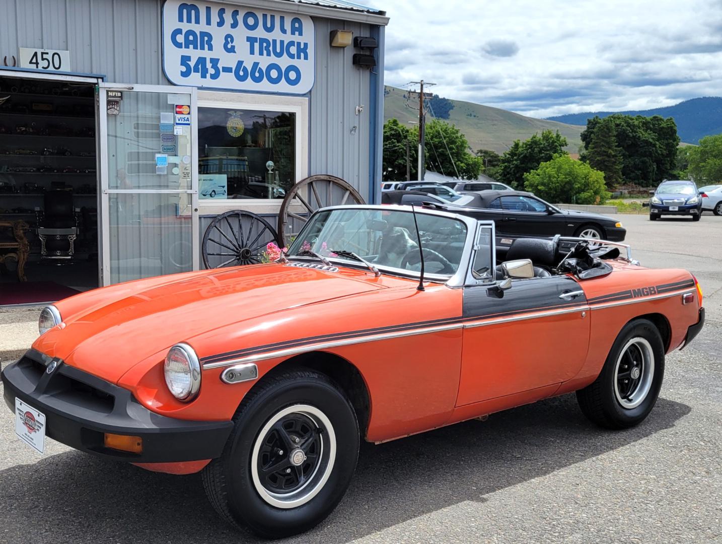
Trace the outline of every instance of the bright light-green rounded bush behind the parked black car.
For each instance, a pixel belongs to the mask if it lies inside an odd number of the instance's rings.
[[[612,195],[604,173],[569,155],[557,155],[524,175],[524,189],[549,202],[603,204]]]

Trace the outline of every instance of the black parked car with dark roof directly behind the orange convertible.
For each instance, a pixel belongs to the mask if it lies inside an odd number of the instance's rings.
[[[496,224],[497,246],[508,249],[516,238],[578,236],[595,240],[624,241],[627,229],[613,217],[592,212],[562,210],[525,191],[482,191],[474,207],[448,210]]]

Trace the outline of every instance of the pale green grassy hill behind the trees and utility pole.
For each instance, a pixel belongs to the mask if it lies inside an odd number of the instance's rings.
[[[386,120],[397,118],[401,123],[418,121],[418,110],[406,107],[405,93],[396,87],[386,87],[383,106]],[[578,152],[581,145],[579,134],[583,126],[524,117],[518,113],[461,100],[451,101],[454,108],[445,121],[456,125],[464,133],[474,151],[486,149],[503,153],[515,139],[527,139],[535,132],[541,133],[546,129],[558,130],[567,137],[567,151],[571,153]]]

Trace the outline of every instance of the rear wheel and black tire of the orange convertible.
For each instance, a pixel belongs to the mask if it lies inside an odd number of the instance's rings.
[[[651,412],[664,377],[664,343],[647,319],[630,321],[614,340],[601,373],[577,392],[582,412],[606,428],[628,428]]]

